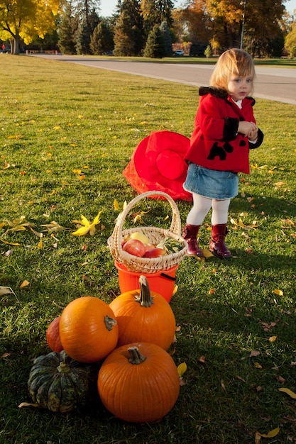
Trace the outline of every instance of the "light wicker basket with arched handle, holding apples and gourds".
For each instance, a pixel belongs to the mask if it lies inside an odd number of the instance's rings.
[[[172,222],[169,230],[165,230],[163,228],[156,227],[141,227],[142,233],[144,233],[150,243],[153,245],[157,245],[161,240],[165,238],[174,238],[182,243],[183,248],[180,251],[171,253],[169,255],[160,256],[160,257],[137,257],[134,255],[130,255],[128,252],[124,251],[121,247],[121,243],[123,238],[126,235],[131,235],[131,233],[135,231],[139,231],[139,228],[129,228],[127,230],[123,230],[124,221],[129,211],[135,206],[138,201],[141,199],[146,199],[149,196],[162,196],[167,199],[172,207]],[[151,191],[143,194],[139,194],[126,206],[124,211],[119,214],[117,218],[116,225],[114,231],[110,238],[108,239],[108,245],[111,251],[111,255],[114,257],[114,260],[124,265],[129,271],[137,272],[137,273],[155,273],[159,270],[169,270],[175,265],[179,265],[182,258],[185,256],[187,251],[187,242],[181,237],[181,219],[180,213],[177,209],[177,205],[175,201],[166,193],[159,191]]]

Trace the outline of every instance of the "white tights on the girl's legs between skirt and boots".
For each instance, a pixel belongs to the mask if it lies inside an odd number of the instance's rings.
[[[192,193],[193,206],[188,213],[186,223],[189,225],[202,225],[204,218],[212,206],[212,225],[227,223],[230,199],[209,199]]]

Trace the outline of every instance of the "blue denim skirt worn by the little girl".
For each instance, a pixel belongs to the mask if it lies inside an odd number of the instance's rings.
[[[239,176],[232,171],[208,170],[190,163],[183,187],[209,199],[231,199],[239,193]]]

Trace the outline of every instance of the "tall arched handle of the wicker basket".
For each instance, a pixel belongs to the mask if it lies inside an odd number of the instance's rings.
[[[117,232],[117,235],[118,235],[119,245],[121,245],[121,240],[122,240],[121,239],[121,231],[122,231],[122,228],[124,226],[124,221],[126,219],[126,216],[129,213],[129,211],[131,211],[133,206],[135,206],[138,203],[138,201],[141,201],[142,199],[146,199],[146,197],[155,196],[155,195],[156,196],[163,196],[163,197],[165,197],[165,199],[167,199],[169,201],[171,209],[172,209],[172,222],[170,224],[170,231],[177,236],[181,235],[181,218],[180,218],[180,213],[177,208],[177,205],[175,204],[174,199],[172,199],[172,197],[165,192],[150,191],[150,192],[142,193],[142,194],[139,194],[138,196],[136,196],[135,199],[131,200],[127,204],[124,211],[122,211],[119,214],[116,224],[115,224],[115,228],[114,228],[114,234]]]

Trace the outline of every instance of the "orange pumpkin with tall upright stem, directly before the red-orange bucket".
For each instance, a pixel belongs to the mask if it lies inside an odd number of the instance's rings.
[[[143,341],[167,350],[175,338],[175,315],[163,296],[150,293],[144,275],[139,278],[139,286],[109,304],[119,326],[118,345]]]

